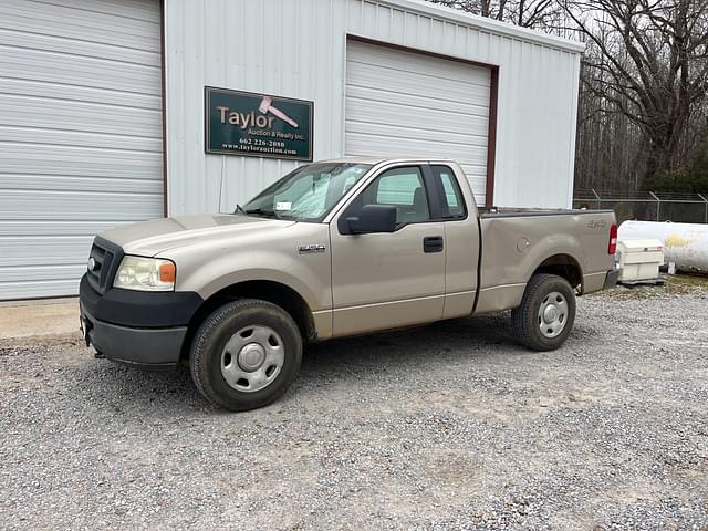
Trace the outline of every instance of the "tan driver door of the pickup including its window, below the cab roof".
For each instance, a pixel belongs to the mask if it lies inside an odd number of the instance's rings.
[[[384,169],[330,223],[334,335],[442,319],[444,223],[430,217],[420,166]],[[343,235],[340,218],[361,205],[396,208],[396,230]]]

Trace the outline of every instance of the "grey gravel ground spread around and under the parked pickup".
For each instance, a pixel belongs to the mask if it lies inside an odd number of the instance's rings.
[[[0,528],[708,529],[708,291],[579,302],[553,353],[506,315],[306,351],[277,404],[0,342]]]

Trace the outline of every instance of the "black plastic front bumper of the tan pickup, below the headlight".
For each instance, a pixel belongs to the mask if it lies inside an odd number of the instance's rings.
[[[157,371],[177,367],[187,325],[202,299],[194,292],[80,289],[84,339],[108,360]]]

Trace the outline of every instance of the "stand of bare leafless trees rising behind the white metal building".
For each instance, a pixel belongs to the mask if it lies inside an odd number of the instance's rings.
[[[708,0],[429,1],[586,42],[576,187],[681,189],[696,173],[708,147]]]

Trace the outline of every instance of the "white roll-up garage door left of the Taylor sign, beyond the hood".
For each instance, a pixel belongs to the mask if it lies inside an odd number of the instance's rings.
[[[0,299],[71,295],[96,232],[163,215],[157,0],[0,2]]]

